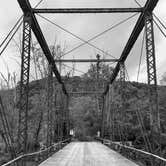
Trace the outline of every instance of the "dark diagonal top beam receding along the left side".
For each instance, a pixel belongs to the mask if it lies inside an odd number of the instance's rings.
[[[50,49],[49,49],[49,46],[44,38],[44,35],[41,31],[41,28],[37,22],[37,19],[33,13],[33,9],[29,3],[28,0],[17,0],[24,15],[26,15],[27,13],[29,13],[31,15],[31,28],[32,28],[32,31],[33,33],[35,34],[36,36],[36,39],[38,40],[47,60],[48,60],[48,63],[50,65],[52,65],[52,70],[58,80],[58,82],[60,84],[62,84],[62,88],[63,88],[63,91],[65,94],[67,94],[67,91],[66,91],[66,88],[64,86],[64,83],[62,82],[62,79],[61,79],[61,76],[60,76],[60,73],[58,72],[58,69],[57,69],[57,66],[55,64],[55,60],[50,52]]]

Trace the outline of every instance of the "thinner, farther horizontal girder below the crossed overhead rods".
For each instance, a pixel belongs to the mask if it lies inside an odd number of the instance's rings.
[[[91,63],[91,62],[118,62],[118,59],[60,59],[55,62],[62,63]]]

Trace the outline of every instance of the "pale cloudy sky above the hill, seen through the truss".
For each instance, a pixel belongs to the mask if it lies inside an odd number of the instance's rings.
[[[35,6],[39,0],[30,0],[32,6]],[[141,5],[144,5],[146,0],[138,0]],[[43,0],[38,8],[74,8],[74,7],[138,7],[134,0]],[[163,21],[166,25],[166,1],[160,0],[154,13]],[[17,3],[17,0],[5,0],[0,5],[0,42],[6,37],[9,30],[16,23],[18,18],[22,15],[22,11]],[[43,14],[42,16],[50,19],[56,25],[59,25],[66,30],[79,36],[81,39],[88,40],[95,35],[107,30],[111,26],[123,21],[124,19],[131,17],[133,14]],[[81,44],[82,41],[76,39],[72,35],[59,29],[57,26],[50,24],[40,16],[36,16],[41,26],[43,34],[49,45],[56,43],[62,47],[66,47],[66,52]],[[87,59],[96,58],[97,54],[105,58],[112,57],[119,58],[122,50],[132,32],[132,29],[139,17],[139,14],[133,16],[130,20],[118,26],[115,29],[105,33],[99,38],[91,42],[91,44],[109,53],[104,55],[103,52],[92,48],[89,45],[75,50],[74,52],[65,55],[65,59]],[[18,31],[14,40],[11,41],[8,48],[0,57],[0,73],[7,76],[7,70],[11,73],[16,72],[19,79],[20,63],[19,51],[16,47],[16,43],[20,42],[21,31]],[[137,80],[138,64],[141,55],[143,33],[141,33],[135,46],[133,47],[128,59],[126,61],[126,68],[128,71],[129,79],[131,81]],[[166,39],[161,35],[159,30],[155,27],[155,49],[156,49],[156,61],[157,61],[157,74],[158,80],[161,79],[164,72],[166,72],[166,56],[165,56]],[[71,64],[68,64],[71,66]],[[113,67],[115,64],[113,65]],[[89,64],[76,64],[76,69],[86,72]],[[67,68],[66,68],[67,70]],[[31,74],[34,74],[33,68]],[[81,72],[75,72],[75,75],[80,75]],[[145,51],[142,58],[141,70],[139,82],[146,82],[146,61]]]

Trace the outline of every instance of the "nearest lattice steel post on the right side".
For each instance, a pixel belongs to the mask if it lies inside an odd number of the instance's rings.
[[[149,85],[150,127],[154,143],[154,135],[157,133],[160,135],[160,116],[158,108],[156,58],[155,58],[155,43],[154,43],[152,13],[146,14],[145,31],[146,31],[146,61],[147,61],[147,74],[148,74],[148,85]]]

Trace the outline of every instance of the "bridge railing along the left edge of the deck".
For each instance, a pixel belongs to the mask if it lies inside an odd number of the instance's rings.
[[[37,166],[47,158],[49,158],[52,154],[59,151],[61,148],[63,148],[67,143],[70,142],[70,139],[66,139],[63,141],[60,141],[58,143],[55,143],[48,147],[47,149],[40,150],[38,152],[28,153],[21,155],[6,164],[3,164],[2,166],[21,166],[22,162],[25,163],[27,166]]]

